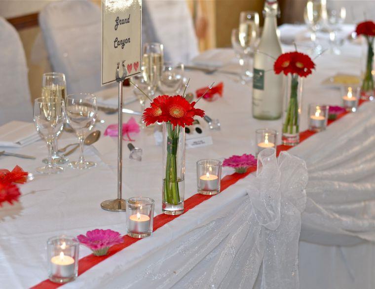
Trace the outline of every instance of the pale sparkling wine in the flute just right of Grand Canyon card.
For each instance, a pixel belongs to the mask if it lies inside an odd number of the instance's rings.
[[[144,54],[142,58],[142,74],[152,90],[156,89],[163,66],[163,57],[160,53]]]

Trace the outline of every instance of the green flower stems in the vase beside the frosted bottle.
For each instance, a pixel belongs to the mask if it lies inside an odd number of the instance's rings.
[[[298,112],[298,75],[293,74],[291,80],[291,91],[290,91],[290,100],[287,109],[287,115],[285,117],[283,125],[284,134],[296,134],[299,133],[299,112]]]

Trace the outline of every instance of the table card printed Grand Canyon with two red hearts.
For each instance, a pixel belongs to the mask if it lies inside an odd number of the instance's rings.
[[[142,0],[102,0],[102,85],[116,80],[125,61],[126,78],[141,71]]]

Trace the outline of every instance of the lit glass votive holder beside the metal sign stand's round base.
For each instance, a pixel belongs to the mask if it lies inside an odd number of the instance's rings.
[[[146,197],[126,200],[126,231],[133,238],[145,238],[152,234],[155,201]]]

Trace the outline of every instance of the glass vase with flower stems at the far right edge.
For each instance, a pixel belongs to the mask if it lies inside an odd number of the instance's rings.
[[[362,86],[361,99],[373,101],[375,99],[374,87],[374,36],[365,36],[365,49],[362,49],[363,56],[363,72],[362,72]]]

